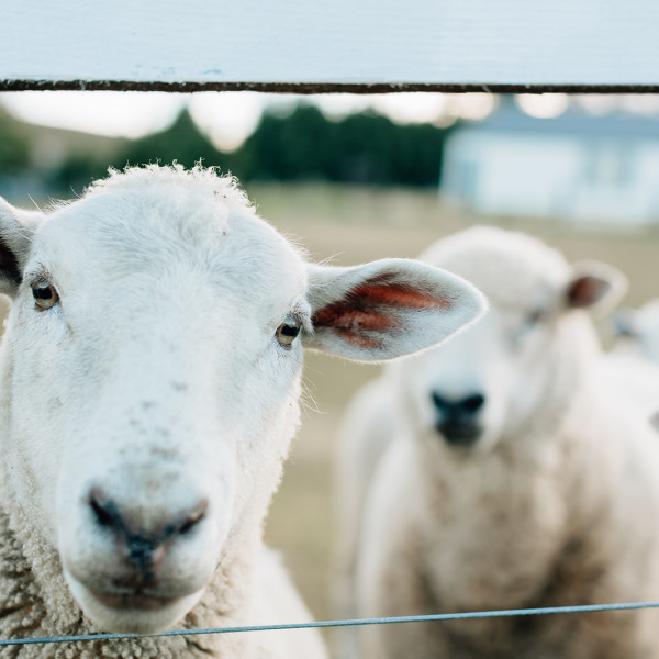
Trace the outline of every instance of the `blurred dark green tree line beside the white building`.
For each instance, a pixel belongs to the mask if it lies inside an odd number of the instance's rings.
[[[24,135],[0,115],[0,175],[27,166]],[[52,190],[80,191],[108,166],[122,169],[177,160],[192,167],[200,159],[243,181],[330,180],[373,185],[437,186],[444,141],[450,129],[400,125],[373,113],[327,119],[317,108],[300,104],[288,114],[266,111],[255,132],[231,153],[213,146],[183,111],[167,130],[122,141],[111,156],[93,153],[65,157],[44,174]]]

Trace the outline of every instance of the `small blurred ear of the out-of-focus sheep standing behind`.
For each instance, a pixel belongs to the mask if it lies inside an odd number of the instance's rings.
[[[617,268],[600,261],[581,261],[572,267],[566,303],[570,309],[607,313],[625,297],[627,286],[627,278]]]

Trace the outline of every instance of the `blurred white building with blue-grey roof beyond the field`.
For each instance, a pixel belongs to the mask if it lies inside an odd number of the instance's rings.
[[[446,143],[443,192],[477,211],[594,222],[659,222],[659,120],[504,102]]]

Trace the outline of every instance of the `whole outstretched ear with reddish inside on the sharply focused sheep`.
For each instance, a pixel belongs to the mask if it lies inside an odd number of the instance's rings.
[[[483,295],[463,279],[415,260],[353,268],[310,266],[313,333],[306,347],[380,361],[433,346],[478,319]]]

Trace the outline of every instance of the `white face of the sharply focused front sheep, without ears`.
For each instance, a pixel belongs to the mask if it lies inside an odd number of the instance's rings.
[[[230,533],[256,530],[297,425],[304,264],[187,197],[185,221],[136,191],[53,213],[9,319],[21,500],[103,629],[192,607]]]

